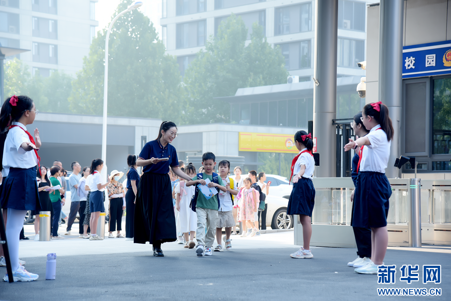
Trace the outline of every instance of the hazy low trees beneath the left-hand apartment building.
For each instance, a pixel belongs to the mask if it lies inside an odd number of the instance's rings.
[[[5,97],[28,95],[41,112],[71,113],[68,97],[73,78],[58,71],[46,78],[37,71],[32,77],[29,69],[17,58],[5,63]]]

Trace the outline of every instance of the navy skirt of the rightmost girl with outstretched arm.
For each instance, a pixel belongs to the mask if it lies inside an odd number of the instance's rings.
[[[387,225],[391,186],[384,173],[360,171],[354,193],[353,227],[379,228]]]

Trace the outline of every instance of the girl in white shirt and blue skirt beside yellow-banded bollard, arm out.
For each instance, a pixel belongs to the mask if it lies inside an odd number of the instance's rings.
[[[97,223],[99,221],[100,212],[105,212],[105,206],[103,202],[105,201],[105,187],[110,184],[110,177],[106,183],[102,184],[102,177],[100,172],[103,169],[103,160],[94,159],[91,164],[91,175],[92,178],[89,181],[89,189],[91,194],[89,196],[89,210],[91,211],[91,220],[89,224],[91,226],[91,237],[89,240],[103,240],[103,237],[97,235]]]

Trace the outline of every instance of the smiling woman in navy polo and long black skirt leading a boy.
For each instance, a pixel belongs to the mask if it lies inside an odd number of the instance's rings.
[[[164,121],[158,138],[144,145],[136,162],[143,167],[143,174],[136,194],[134,242],[149,241],[154,256],[164,256],[163,242],[177,240],[169,166],[179,177],[191,180],[178,166],[177,152],[171,145],[175,137],[175,124]]]

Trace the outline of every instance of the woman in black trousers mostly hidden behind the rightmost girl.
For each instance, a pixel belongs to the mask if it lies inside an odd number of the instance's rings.
[[[358,137],[366,136],[369,131],[363,125],[363,122],[360,120],[362,117],[362,112],[357,113],[354,116],[354,121],[351,122],[351,127],[354,130],[354,134]],[[360,147],[357,147],[355,150],[354,157],[352,158],[352,172],[351,178],[354,182],[354,186],[357,186],[357,176],[358,176],[358,163],[359,163],[359,151]],[[352,202],[352,207],[354,207],[354,202]],[[353,210],[351,211],[353,212]],[[351,224],[352,224],[352,215],[351,215]],[[366,263],[371,261],[371,229],[368,227],[352,227],[354,231],[355,243],[357,245],[357,258],[351,262],[348,262],[348,266],[352,267],[362,267]]]

